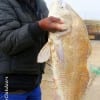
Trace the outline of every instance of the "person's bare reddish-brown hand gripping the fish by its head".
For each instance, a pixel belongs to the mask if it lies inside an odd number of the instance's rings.
[[[49,32],[65,31],[64,22],[56,17],[50,16],[40,20],[39,26],[41,29]]]

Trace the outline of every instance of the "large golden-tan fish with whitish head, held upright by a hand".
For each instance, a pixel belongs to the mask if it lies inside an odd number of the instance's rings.
[[[57,93],[54,100],[82,100],[89,81],[87,59],[91,51],[86,26],[68,4],[59,0],[53,2],[49,16],[62,19],[65,31],[49,34],[48,42],[38,55],[38,62],[51,60]]]

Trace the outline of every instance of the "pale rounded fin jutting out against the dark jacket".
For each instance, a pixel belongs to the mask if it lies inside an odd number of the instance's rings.
[[[50,58],[50,45],[46,43],[38,54],[37,62],[43,63]]]

